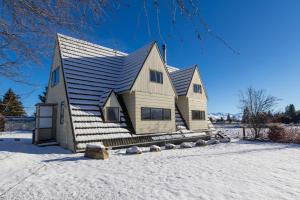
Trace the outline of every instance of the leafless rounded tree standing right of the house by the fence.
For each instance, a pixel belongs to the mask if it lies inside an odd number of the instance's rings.
[[[265,90],[249,87],[240,93],[240,108],[248,111],[248,123],[254,132],[255,139],[259,137],[261,129],[266,124],[267,113],[272,111],[279,99],[267,95]]]

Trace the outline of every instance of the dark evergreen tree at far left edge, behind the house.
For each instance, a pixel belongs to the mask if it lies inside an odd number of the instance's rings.
[[[4,116],[24,116],[26,112],[20,101],[20,97],[16,95],[10,88],[3,96],[2,114]]]

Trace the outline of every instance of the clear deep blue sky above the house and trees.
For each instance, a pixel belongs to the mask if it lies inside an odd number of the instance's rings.
[[[276,110],[290,103],[300,109],[300,1],[203,0],[200,5],[210,28],[239,55],[208,34],[203,33],[198,40],[195,26],[179,13],[176,25],[171,26],[164,9],[160,10],[162,36],[154,14],[149,16],[149,34],[143,10],[134,5],[107,16],[101,27],[85,33],[84,39],[126,52],[153,40],[166,43],[169,65],[199,65],[209,96],[209,112],[239,112],[239,91],[249,86],[280,98]],[[0,77],[0,95],[13,88],[32,114],[37,96],[48,82],[51,59],[49,56],[38,68],[26,67],[25,73],[36,87]]]

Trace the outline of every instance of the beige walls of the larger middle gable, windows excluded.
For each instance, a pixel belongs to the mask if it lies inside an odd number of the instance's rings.
[[[163,73],[163,84],[150,81],[150,70]],[[131,94],[124,95],[125,104],[136,133],[176,131],[175,96],[167,69],[159,54],[157,45],[154,45],[135,80]],[[171,120],[141,120],[141,107],[171,109]]]

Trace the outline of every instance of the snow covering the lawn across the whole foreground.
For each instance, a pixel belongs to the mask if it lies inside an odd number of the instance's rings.
[[[0,134],[0,199],[300,199],[300,145],[234,140],[103,161],[30,137]]]

